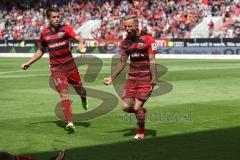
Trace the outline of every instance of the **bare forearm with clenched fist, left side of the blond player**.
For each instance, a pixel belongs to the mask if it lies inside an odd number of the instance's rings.
[[[104,78],[103,83],[105,85],[111,84],[111,82],[119,75],[119,73],[124,69],[127,63],[128,56],[121,55],[120,60],[116,68],[114,69],[112,75],[110,77]]]

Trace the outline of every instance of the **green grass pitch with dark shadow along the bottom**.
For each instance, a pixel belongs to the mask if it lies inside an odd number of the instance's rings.
[[[76,123],[67,134],[54,108],[59,101],[49,87],[48,62],[41,59],[28,71],[20,70],[26,58],[0,58],[0,150],[48,159],[66,149],[66,160],[186,160],[238,159],[240,144],[240,61],[158,60],[168,68],[160,79],[173,86],[168,94],[146,103],[147,136],[134,140],[135,119],[120,103],[110,113]],[[81,59],[84,61],[85,59]],[[102,79],[111,71],[103,66],[91,89],[110,92]],[[92,64],[94,65],[94,64]],[[84,78],[86,66],[80,66]],[[119,98],[119,97],[118,97]],[[80,99],[71,95],[74,113],[84,112]],[[120,98],[119,98],[120,100]],[[90,110],[101,100],[89,98]],[[120,101],[119,101],[120,102]]]

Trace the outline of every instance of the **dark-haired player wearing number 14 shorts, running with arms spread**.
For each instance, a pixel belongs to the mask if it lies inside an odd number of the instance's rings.
[[[39,49],[35,55],[27,62],[21,65],[26,70],[35,61],[39,60],[46,50],[49,52],[50,71],[56,90],[61,97],[62,109],[67,121],[66,129],[69,132],[76,130],[73,124],[72,107],[68,96],[68,84],[72,84],[82,100],[84,109],[88,108],[86,99],[86,90],[84,89],[78,68],[70,51],[70,39],[78,41],[78,50],[84,50],[83,39],[78,35],[72,26],[62,25],[60,23],[59,10],[49,8],[46,11],[49,25],[45,27],[40,36]]]

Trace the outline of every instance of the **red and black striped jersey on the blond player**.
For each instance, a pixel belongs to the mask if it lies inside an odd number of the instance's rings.
[[[127,36],[121,45],[121,55],[130,56],[128,79],[150,81],[149,54],[156,53],[155,40],[146,32],[141,32],[135,39]]]

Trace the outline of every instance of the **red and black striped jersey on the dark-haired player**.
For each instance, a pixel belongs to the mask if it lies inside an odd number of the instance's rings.
[[[68,69],[76,67],[70,51],[70,38],[77,36],[73,27],[61,25],[58,30],[52,31],[45,27],[41,32],[40,47],[49,52],[50,69]]]

